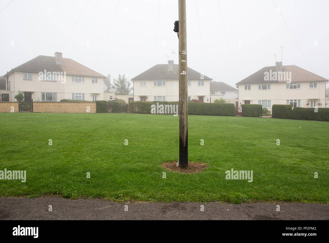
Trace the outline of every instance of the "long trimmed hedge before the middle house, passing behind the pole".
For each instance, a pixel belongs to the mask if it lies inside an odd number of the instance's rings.
[[[130,101],[129,113],[151,114],[151,105],[178,105],[178,101]],[[235,116],[234,104],[194,103],[189,102],[189,115],[200,116]]]

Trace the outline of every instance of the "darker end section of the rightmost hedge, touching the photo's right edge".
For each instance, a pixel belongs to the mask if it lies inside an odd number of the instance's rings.
[[[328,108],[302,108],[295,107],[292,110],[292,118],[295,120],[309,120],[309,121],[327,121],[329,122]]]

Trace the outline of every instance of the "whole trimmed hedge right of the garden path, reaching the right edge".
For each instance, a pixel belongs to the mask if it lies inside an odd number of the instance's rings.
[[[309,120],[309,121],[327,121],[329,122],[328,108],[302,108],[295,107],[292,109],[291,105],[273,105],[272,117],[295,120]]]

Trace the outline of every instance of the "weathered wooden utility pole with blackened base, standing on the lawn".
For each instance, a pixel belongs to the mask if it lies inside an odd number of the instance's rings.
[[[186,0],[178,0],[179,20],[179,167],[188,168]]]

